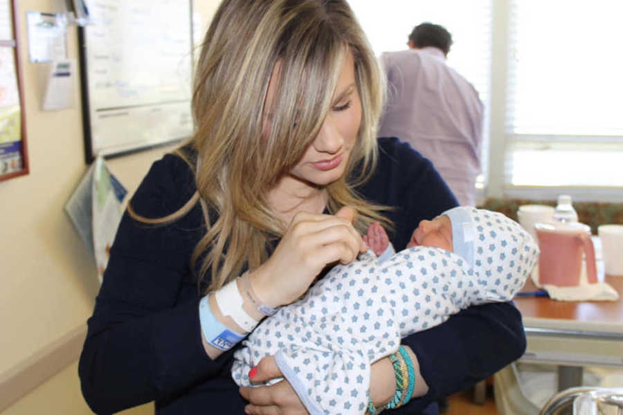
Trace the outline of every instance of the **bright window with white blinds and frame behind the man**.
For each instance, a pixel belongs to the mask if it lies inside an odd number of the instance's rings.
[[[448,64],[485,103],[488,195],[622,200],[622,1],[350,4],[377,55],[406,48],[422,21],[453,34]]]

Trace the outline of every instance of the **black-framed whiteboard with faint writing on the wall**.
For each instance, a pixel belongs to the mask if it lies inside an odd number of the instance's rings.
[[[119,156],[192,133],[192,0],[90,1],[78,30],[84,149]]]

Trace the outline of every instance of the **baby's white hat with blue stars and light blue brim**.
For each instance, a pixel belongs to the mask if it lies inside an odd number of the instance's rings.
[[[539,247],[521,225],[501,213],[467,206],[443,214],[452,223],[453,251],[467,261],[483,285],[493,278],[500,291],[523,286],[539,258]],[[490,299],[495,297],[493,291]]]

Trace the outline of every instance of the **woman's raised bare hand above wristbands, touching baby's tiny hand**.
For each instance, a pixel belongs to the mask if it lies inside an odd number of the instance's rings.
[[[327,264],[350,264],[365,252],[352,226],[354,215],[348,207],[335,215],[297,213],[273,255],[249,273],[253,291],[264,304],[276,308],[294,302]]]

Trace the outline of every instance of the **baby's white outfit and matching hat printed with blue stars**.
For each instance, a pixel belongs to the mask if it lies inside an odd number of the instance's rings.
[[[418,246],[381,263],[368,253],[335,266],[244,340],[234,355],[235,382],[251,385],[249,370],[275,355],[310,414],[363,414],[370,364],[395,353],[401,338],[472,304],[512,299],[539,255],[532,237],[496,212],[444,214],[455,252]]]

